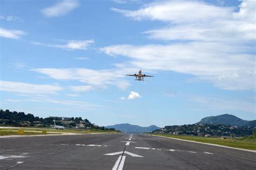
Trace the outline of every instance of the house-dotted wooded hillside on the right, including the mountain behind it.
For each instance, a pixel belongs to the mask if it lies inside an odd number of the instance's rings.
[[[233,115],[210,116],[196,124],[165,126],[153,133],[182,134],[189,136],[248,136],[256,131],[256,121],[245,121]]]

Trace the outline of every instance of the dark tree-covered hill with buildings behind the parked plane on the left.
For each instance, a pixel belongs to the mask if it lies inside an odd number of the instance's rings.
[[[97,126],[88,119],[82,119],[81,117],[64,119],[62,117],[39,118],[24,112],[0,110],[0,126],[47,127],[53,124],[53,119],[56,119],[56,125],[62,125],[66,128],[114,130],[105,129],[104,126]]]

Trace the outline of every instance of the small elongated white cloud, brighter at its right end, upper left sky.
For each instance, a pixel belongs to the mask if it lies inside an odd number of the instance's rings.
[[[94,43],[94,40],[70,40],[64,45],[60,44],[45,44],[42,42],[31,42],[34,45],[42,45],[42,46],[48,46],[48,47],[56,47],[56,48],[62,48],[66,50],[73,50],[73,49],[87,49],[88,46]]]

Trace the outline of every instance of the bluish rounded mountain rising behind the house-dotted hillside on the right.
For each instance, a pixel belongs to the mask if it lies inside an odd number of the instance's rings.
[[[231,126],[255,126],[256,121],[245,121],[234,115],[209,116],[201,119],[196,124],[223,124]]]

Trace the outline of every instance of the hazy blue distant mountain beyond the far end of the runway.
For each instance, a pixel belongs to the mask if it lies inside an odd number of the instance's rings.
[[[153,130],[160,129],[156,125],[151,125],[149,127],[142,127],[142,126],[138,126],[138,125],[131,125],[129,123],[105,126],[105,128],[114,128],[114,129],[120,130],[122,132],[137,132],[137,133],[152,132]]]

